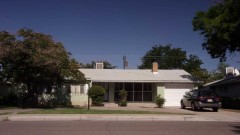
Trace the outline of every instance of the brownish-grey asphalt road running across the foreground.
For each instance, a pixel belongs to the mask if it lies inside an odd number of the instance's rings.
[[[239,135],[236,122],[41,121],[0,122],[1,135]]]

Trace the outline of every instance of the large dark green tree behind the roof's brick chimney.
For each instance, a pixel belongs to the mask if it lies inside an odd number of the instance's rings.
[[[203,81],[208,78],[207,70],[201,68],[203,62],[196,55],[187,57],[186,51],[173,48],[171,44],[153,46],[141,60],[140,69],[151,69],[152,63],[158,62],[159,69],[184,69]]]

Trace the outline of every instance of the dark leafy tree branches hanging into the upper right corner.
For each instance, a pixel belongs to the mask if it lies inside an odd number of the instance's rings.
[[[197,12],[193,30],[204,36],[203,48],[212,58],[226,60],[227,53],[240,52],[240,2],[223,0],[206,12]]]

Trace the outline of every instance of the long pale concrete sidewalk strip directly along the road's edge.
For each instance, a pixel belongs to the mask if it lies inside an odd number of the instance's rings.
[[[55,115],[11,115],[9,121],[224,121],[240,122],[240,118],[216,118],[201,115],[97,115],[97,114],[55,114]]]

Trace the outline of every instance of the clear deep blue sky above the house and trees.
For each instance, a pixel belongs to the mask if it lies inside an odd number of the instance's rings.
[[[124,55],[129,68],[137,68],[152,46],[171,43],[212,70],[218,60],[202,50],[203,37],[191,23],[195,12],[212,5],[213,0],[0,0],[0,31],[26,27],[50,34],[79,62],[107,60],[118,68]],[[227,62],[239,68],[238,60],[231,55]]]

